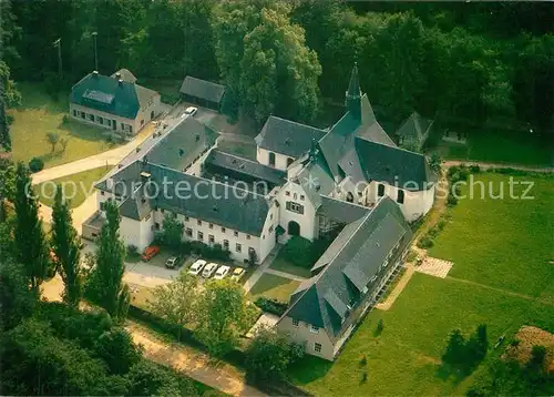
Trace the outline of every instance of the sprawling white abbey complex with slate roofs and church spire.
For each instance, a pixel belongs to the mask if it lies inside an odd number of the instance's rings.
[[[326,130],[270,116],[257,161],[225,153],[216,132],[182,119],[96,185],[99,212],[83,236],[98,235],[110,198],[120,203],[122,238],[141,251],[167,214],[183,223],[184,240],[220,244],[239,262],[255,253],[261,263],[290,236],[340,230],[277,323],[308,354],[334,359],[401,266],[409,222],[431,208],[437,182],[425,157],[398,147],[379,124],[357,67],[346,108]],[[186,189],[177,196],[175,186]]]

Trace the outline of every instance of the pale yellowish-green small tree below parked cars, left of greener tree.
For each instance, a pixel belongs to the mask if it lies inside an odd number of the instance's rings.
[[[182,328],[195,317],[194,306],[197,294],[196,278],[182,271],[175,281],[154,289],[154,298],[148,306],[152,313],[178,326],[181,339]]]

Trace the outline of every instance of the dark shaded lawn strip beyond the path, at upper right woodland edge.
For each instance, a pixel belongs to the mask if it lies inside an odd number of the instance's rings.
[[[468,146],[441,143],[445,157],[473,160],[489,163],[514,163],[523,165],[552,166],[552,147],[535,135],[474,131],[469,135]]]

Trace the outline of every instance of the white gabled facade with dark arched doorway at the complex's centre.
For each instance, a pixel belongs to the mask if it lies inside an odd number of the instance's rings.
[[[288,195],[287,195],[288,192]],[[304,196],[304,200],[302,200]],[[295,198],[296,197],[296,198]],[[300,236],[308,240],[316,237],[316,208],[308,198],[302,186],[288,182],[277,194],[279,201],[279,224],[288,233],[288,223],[295,221],[300,225]],[[304,206],[304,214],[287,210],[287,202],[298,203]]]

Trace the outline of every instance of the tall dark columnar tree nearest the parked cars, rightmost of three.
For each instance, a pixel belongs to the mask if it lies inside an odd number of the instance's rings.
[[[117,204],[109,200],[105,205],[106,222],[102,225],[96,265],[91,272],[89,291],[93,299],[115,319],[123,320],[129,289],[123,287],[125,272],[125,246],[120,238],[120,213]]]

